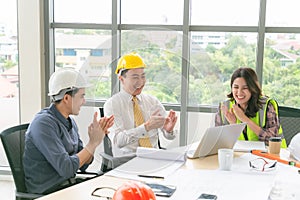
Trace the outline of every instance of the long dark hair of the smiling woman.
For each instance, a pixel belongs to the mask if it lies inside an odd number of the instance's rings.
[[[258,78],[256,72],[249,67],[241,67],[235,70],[231,76],[230,87],[232,88],[233,81],[236,78],[244,78],[249,91],[251,92],[251,98],[248,101],[248,106],[245,111],[247,117],[255,117],[256,113],[262,108],[262,101],[260,97],[262,96],[262,91],[258,83]],[[227,95],[228,98],[233,100],[232,91]]]

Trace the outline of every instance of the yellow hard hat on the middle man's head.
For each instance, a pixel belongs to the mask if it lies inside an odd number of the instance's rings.
[[[119,59],[115,73],[119,74],[119,72],[124,69],[136,69],[145,67],[146,65],[141,56],[133,52],[126,54]]]

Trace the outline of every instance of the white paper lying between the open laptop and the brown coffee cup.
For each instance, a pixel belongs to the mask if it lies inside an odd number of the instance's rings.
[[[261,150],[267,152],[267,148],[262,141],[238,140],[233,146],[234,151],[250,152],[251,150]]]

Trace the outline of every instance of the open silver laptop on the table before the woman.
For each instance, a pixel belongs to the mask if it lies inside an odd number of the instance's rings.
[[[217,154],[220,148],[232,149],[245,126],[246,123],[240,123],[207,128],[202,139],[191,145],[187,157],[205,157]]]

